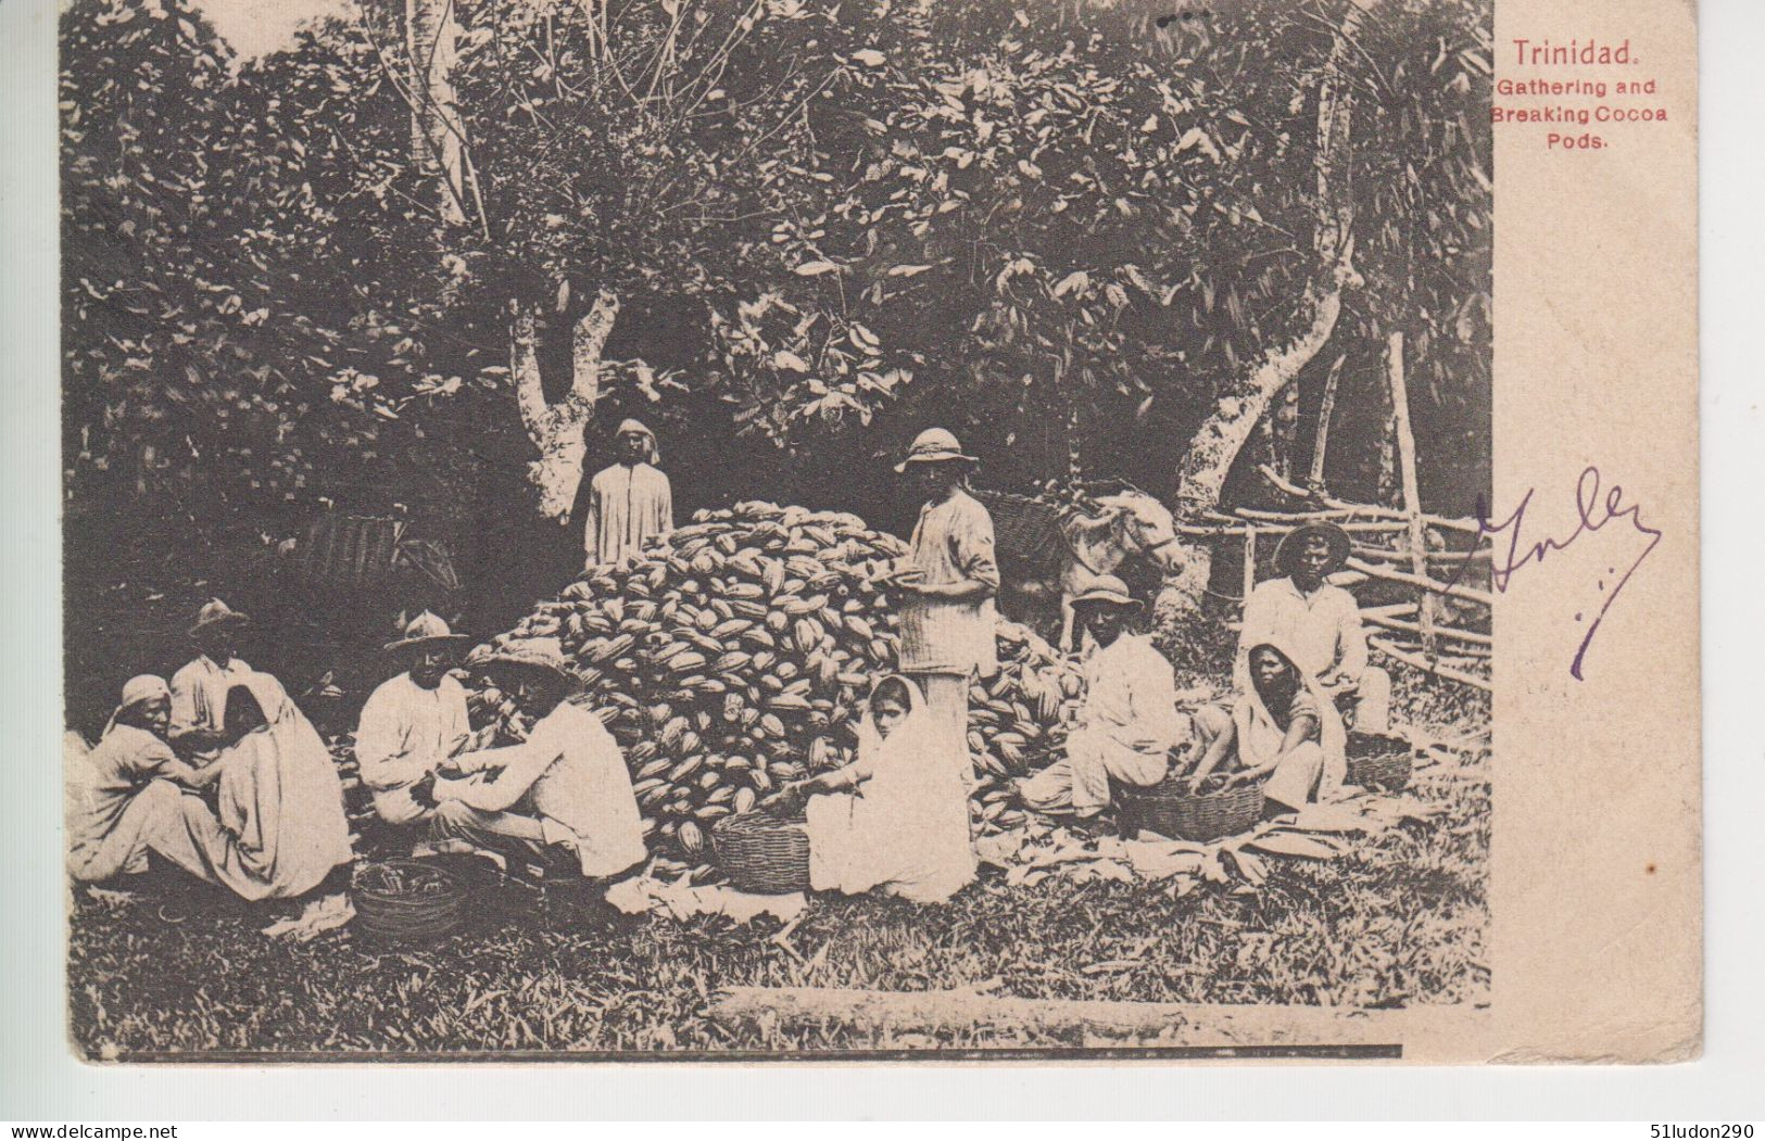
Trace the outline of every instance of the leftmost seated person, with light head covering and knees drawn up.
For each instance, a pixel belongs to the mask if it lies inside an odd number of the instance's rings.
[[[148,848],[178,824],[182,792],[168,778],[196,781],[196,769],[166,744],[171,691],[143,674],[122,688],[122,704],[83,758],[69,758],[67,868],[97,884],[146,871]]]

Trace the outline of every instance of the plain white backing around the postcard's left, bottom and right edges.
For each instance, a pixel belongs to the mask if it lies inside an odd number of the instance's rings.
[[[274,2],[274,0],[261,0]],[[1523,0],[1497,0],[1516,4]],[[1765,1095],[1765,9],[1701,11],[1707,1037],[1675,1067],[118,1067],[64,1040],[55,5],[0,4],[0,1120],[1760,1116]],[[1641,1132],[1638,1136],[1647,1136]]]

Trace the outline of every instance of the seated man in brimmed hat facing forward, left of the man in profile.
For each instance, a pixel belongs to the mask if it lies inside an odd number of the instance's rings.
[[[418,804],[411,788],[471,735],[466,688],[448,675],[466,642],[466,635],[424,610],[402,638],[387,644],[387,654],[408,668],[374,690],[355,730],[362,783],[387,824],[429,820],[434,808]]]

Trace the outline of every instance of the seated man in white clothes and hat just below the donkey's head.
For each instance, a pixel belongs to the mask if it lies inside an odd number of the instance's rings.
[[[1112,575],[1073,600],[1073,619],[1096,642],[1085,660],[1085,700],[1066,735],[1066,758],[1018,781],[1025,808],[1094,817],[1110,802],[1110,778],[1156,785],[1170,749],[1190,739],[1170,663],[1147,635],[1128,631],[1138,612]]]

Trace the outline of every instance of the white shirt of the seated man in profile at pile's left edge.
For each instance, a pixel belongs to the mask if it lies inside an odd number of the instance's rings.
[[[646,855],[620,742],[581,705],[565,702],[540,718],[524,742],[466,753],[454,767],[468,776],[438,779],[436,801],[507,813],[526,797],[545,843],[575,848],[586,876],[625,871]]]

